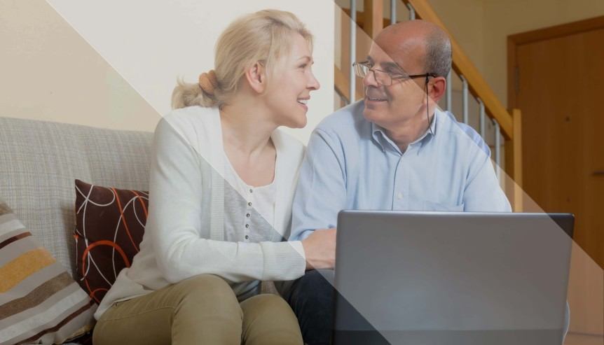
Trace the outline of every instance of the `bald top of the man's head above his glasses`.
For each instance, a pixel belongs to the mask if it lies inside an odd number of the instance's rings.
[[[416,59],[425,73],[446,77],[451,70],[451,41],[441,27],[425,20],[390,25],[376,37],[376,44],[397,60]]]

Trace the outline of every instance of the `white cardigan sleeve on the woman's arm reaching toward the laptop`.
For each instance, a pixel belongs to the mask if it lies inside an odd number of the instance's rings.
[[[170,115],[167,115],[170,116]],[[198,274],[216,274],[232,282],[291,280],[304,274],[306,258],[300,241],[231,242],[209,239],[202,221],[202,199],[210,198],[211,169],[191,145],[179,122],[160,121],[153,138],[146,232],[160,272],[170,283]],[[208,174],[204,174],[208,173]],[[211,180],[206,178],[206,180]],[[205,228],[204,228],[205,227]]]

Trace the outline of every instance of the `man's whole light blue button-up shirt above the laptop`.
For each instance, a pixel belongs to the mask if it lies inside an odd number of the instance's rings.
[[[337,227],[342,209],[511,211],[479,134],[435,111],[431,130],[404,152],[363,117],[358,101],[310,136],[294,197],[291,240]]]

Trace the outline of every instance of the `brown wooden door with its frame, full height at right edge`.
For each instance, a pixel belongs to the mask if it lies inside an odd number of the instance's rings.
[[[575,213],[571,331],[602,335],[604,17],[509,36],[508,48],[509,106],[522,111],[522,187],[544,211]]]

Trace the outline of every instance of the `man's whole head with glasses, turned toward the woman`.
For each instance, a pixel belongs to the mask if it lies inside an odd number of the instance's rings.
[[[451,70],[451,41],[447,34],[431,22],[400,22],[378,34],[367,60],[374,72],[363,79],[365,118],[390,130],[419,122],[425,122],[427,127],[426,113],[432,114],[434,104],[443,96],[446,75]],[[384,72],[394,76],[392,85],[380,83],[390,80]],[[431,76],[406,78],[423,74]]]

